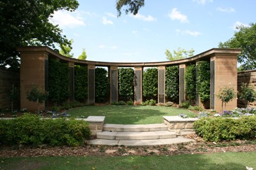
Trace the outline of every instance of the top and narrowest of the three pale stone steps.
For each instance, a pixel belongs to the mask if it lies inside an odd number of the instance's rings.
[[[147,125],[118,125],[104,124],[103,131],[112,132],[148,132],[148,131],[167,131],[166,124],[147,124]]]

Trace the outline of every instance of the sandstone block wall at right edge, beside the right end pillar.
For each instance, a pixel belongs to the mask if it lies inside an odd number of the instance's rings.
[[[250,71],[241,71],[237,73],[237,90],[238,92],[241,90],[242,83],[247,83],[252,86],[256,90],[256,70]],[[256,108],[256,103],[250,103],[251,107]],[[246,108],[246,103],[244,101],[238,99],[237,107]]]

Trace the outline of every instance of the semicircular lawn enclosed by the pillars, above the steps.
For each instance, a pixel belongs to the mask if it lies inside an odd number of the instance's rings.
[[[72,117],[83,115],[105,116],[108,124],[159,124],[163,123],[163,116],[176,116],[179,113],[188,117],[195,117],[191,111],[164,106],[85,106],[67,111]]]

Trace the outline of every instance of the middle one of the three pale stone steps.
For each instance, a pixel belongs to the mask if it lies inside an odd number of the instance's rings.
[[[97,133],[97,139],[115,139],[115,140],[145,140],[145,139],[168,139],[176,138],[175,132],[169,131],[150,131],[150,132],[109,132],[103,131]]]

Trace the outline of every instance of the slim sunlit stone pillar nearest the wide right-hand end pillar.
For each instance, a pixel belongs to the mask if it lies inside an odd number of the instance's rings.
[[[185,101],[185,71],[186,71],[186,64],[181,64],[179,66],[179,104]]]

